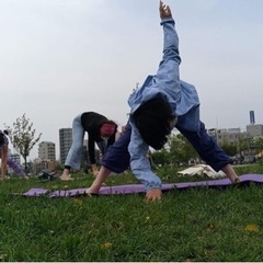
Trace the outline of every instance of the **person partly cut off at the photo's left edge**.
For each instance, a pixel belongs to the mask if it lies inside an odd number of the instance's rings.
[[[23,179],[28,180],[22,167],[16,163],[8,152],[9,139],[7,137],[8,130],[0,130],[0,158],[1,158],[1,176],[0,180],[4,180],[7,175],[8,167],[10,167],[15,174]]]

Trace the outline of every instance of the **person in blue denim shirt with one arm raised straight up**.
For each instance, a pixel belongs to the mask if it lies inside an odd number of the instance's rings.
[[[161,180],[151,171],[147,152],[149,146],[161,149],[174,127],[214,170],[225,172],[232,183],[239,182],[231,165],[232,159],[208,136],[199,119],[195,87],[180,79],[179,38],[170,7],[160,1],[159,12],[164,35],[159,69],[129,96],[128,124],[102,159],[99,175],[85,191],[89,196],[99,193],[111,172],[121,173],[130,165],[132,172],[145,185],[146,201],[161,199]]]

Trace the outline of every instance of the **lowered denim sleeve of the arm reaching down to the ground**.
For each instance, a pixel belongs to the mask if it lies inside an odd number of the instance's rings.
[[[146,157],[149,146],[142,140],[133,122],[130,122],[130,126],[132,135],[128,151],[132,172],[145,185],[146,191],[161,188],[161,180],[151,171],[150,162]]]

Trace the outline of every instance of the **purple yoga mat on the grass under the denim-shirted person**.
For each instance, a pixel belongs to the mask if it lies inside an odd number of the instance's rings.
[[[241,180],[240,185],[245,185],[250,182],[254,182],[256,184],[263,184],[263,175],[262,174],[244,174],[239,176]],[[207,180],[207,181],[198,181],[198,182],[183,182],[183,183],[169,183],[162,184],[162,191],[169,190],[186,190],[191,187],[215,187],[220,188],[227,185],[231,185],[229,179],[217,179],[217,180]],[[83,195],[87,188],[76,188],[76,190],[60,190],[49,192],[45,188],[31,188],[26,193],[23,193],[23,196],[42,196],[46,195],[49,197],[73,197],[78,195]],[[126,184],[126,185],[115,185],[115,186],[103,186],[100,190],[99,195],[125,195],[125,194],[137,194],[145,193],[145,187],[142,184]]]

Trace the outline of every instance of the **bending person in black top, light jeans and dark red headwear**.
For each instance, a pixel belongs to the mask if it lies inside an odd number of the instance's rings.
[[[83,149],[84,133],[88,133],[88,151],[91,161],[93,175],[96,176],[99,169],[95,161],[95,142],[102,153],[105,155],[108,146],[115,141],[117,125],[113,121],[95,112],[84,112],[73,118],[72,123],[72,145],[68,152],[65,169],[60,180],[68,181],[70,169],[80,169],[81,152]]]

